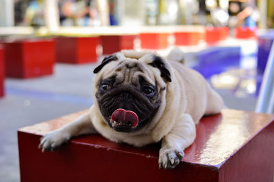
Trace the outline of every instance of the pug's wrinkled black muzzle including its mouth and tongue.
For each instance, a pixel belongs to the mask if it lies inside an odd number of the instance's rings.
[[[132,87],[119,87],[99,95],[97,100],[101,114],[108,125],[116,132],[134,132],[145,127],[160,106]],[[153,102],[152,102],[153,101]]]

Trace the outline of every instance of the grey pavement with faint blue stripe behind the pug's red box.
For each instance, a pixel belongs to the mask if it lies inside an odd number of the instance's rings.
[[[16,130],[84,110],[92,105],[95,64],[55,64],[55,74],[32,79],[5,80],[0,98],[0,181],[20,181]],[[256,97],[236,97],[232,91],[219,93],[228,108],[254,110]]]

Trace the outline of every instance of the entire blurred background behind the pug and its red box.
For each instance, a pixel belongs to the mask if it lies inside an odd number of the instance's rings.
[[[182,50],[227,108],[273,112],[274,86],[264,81],[273,7],[273,0],[0,0],[0,181],[20,181],[16,130],[89,108],[93,69],[123,49]]]

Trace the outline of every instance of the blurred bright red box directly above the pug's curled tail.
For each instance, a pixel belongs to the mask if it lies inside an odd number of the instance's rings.
[[[181,31],[175,32],[175,45],[176,46],[194,46],[198,45],[199,41],[202,39],[201,32],[193,31]]]

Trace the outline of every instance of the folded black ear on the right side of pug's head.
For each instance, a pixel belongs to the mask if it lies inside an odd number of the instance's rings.
[[[149,63],[149,65],[157,67],[161,72],[162,78],[166,79],[168,82],[171,82],[171,72],[169,72],[168,66],[164,63],[162,58],[155,56],[152,63]]]

